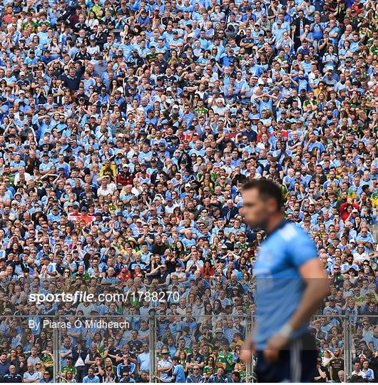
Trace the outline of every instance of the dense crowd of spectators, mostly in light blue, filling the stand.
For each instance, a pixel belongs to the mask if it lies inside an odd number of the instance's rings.
[[[265,237],[243,222],[251,178],[282,186],[330,277],[314,380],[377,379],[376,1],[0,11],[2,382],[51,382],[54,364],[66,382],[155,381],[151,360],[161,382],[250,380],[239,354]],[[77,291],[128,298],[29,300]]]

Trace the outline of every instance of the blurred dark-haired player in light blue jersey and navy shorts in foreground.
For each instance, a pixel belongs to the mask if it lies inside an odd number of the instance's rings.
[[[308,322],[328,294],[327,276],[310,237],[282,211],[280,188],[267,180],[243,186],[245,222],[265,230],[254,267],[255,327],[242,348],[256,354],[257,382],[313,382],[315,340]]]

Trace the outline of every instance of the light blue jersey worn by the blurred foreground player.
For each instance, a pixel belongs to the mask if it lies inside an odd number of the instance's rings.
[[[299,268],[317,258],[307,233],[291,222],[282,224],[262,242],[255,264],[257,325],[255,342],[265,349],[267,340],[292,317],[305,291]],[[303,325],[293,337],[307,332]]]

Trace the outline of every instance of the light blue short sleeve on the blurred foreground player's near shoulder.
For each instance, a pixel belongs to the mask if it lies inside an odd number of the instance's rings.
[[[286,229],[282,229],[285,231]],[[291,240],[287,242],[287,252],[290,255],[290,262],[295,267],[305,265],[307,261],[317,258],[317,248],[312,239],[305,231],[298,227],[291,227]]]

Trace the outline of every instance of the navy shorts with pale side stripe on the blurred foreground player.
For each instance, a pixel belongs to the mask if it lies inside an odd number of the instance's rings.
[[[317,376],[317,349],[311,334],[303,334],[280,351],[277,362],[269,364],[257,351],[257,382],[314,382]]]

